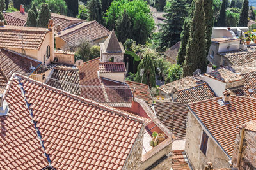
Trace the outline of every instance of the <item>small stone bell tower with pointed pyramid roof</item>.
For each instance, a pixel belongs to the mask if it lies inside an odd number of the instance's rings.
[[[101,62],[124,62],[124,46],[118,42],[114,29],[104,43],[100,43]]]

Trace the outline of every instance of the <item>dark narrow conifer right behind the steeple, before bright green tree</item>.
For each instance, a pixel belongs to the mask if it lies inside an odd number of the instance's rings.
[[[116,20],[116,36],[124,43],[126,39],[131,38],[131,18],[127,15],[126,10],[122,14],[122,17],[119,17]]]

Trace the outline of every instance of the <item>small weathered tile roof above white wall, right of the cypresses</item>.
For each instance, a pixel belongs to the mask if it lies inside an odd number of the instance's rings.
[[[223,81],[224,83],[244,80],[243,76],[239,76],[238,74],[225,68],[212,71],[211,73],[205,73],[204,76],[209,76],[216,80]]]

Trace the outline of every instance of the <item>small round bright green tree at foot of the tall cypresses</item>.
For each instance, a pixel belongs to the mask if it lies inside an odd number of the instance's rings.
[[[169,69],[168,69],[168,76],[165,79],[165,84],[170,83],[172,81],[179,80],[182,76],[182,67],[179,64],[173,64]]]

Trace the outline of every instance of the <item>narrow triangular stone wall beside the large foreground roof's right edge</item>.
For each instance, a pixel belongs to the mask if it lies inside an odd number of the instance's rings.
[[[143,127],[141,127],[140,133],[138,134],[138,138],[136,139],[134,145],[132,146],[131,152],[129,153],[127,159],[125,160],[123,169],[140,169],[144,129],[145,127],[143,125]]]

